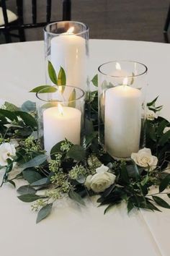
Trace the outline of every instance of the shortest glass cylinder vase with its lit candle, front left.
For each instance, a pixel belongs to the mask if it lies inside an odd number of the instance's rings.
[[[45,151],[61,140],[83,145],[84,91],[73,86],[53,86],[37,94],[38,137]]]

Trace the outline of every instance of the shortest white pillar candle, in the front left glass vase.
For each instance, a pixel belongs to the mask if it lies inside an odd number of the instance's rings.
[[[43,112],[44,147],[48,154],[51,148],[65,138],[73,144],[80,144],[81,111],[62,106],[45,109]]]

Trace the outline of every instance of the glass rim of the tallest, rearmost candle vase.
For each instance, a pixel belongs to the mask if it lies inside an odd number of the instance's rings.
[[[82,25],[82,26],[85,28],[85,30],[84,30],[84,31],[81,31],[81,32],[79,32],[79,33],[73,33],[73,34],[53,33],[53,32],[48,32],[48,31],[47,31],[47,28],[50,27],[51,25],[54,25],[54,24],[56,24],[56,23],[63,23],[63,22],[70,22],[70,23],[72,22],[72,23],[76,23],[76,24]],[[68,35],[81,35],[81,34],[84,34],[84,33],[86,33],[86,32],[89,32],[89,27],[88,27],[88,25],[84,24],[83,22],[76,22],[76,21],[74,21],[74,20],[63,20],[63,21],[58,21],[58,22],[49,23],[48,25],[46,25],[46,26],[43,28],[43,30],[44,30],[45,33],[48,33],[48,34],[50,34],[50,35],[62,35],[62,34],[63,34],[63,35],[68,36]]]

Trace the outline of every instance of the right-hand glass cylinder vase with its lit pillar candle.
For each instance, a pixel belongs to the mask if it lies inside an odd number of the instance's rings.
[[[136,61],[99,67],[99,143],[113,158],[129,159],[145,145],[147,71]]]

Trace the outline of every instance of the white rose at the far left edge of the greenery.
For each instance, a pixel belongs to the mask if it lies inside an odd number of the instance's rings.
[[[6,166],[6,159],[12,157],[16,154],[16,149],[14,145],[10,143],[2,143],[0,145],[0,166]]]

